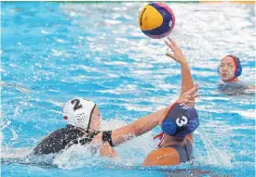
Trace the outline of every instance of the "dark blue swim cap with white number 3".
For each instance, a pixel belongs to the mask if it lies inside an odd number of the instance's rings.
[[[162,130],[168,135],[184,138],[187,134],[193,133],[198,126],[199,120],[196,109],[175,103],[168,110],[166,120],[162,124]]]

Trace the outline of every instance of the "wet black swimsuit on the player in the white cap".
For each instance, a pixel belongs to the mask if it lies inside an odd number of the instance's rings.
[[[86,131],[73,125],[67,125],[65,128],[59,129],[50,133],[43,139],[39,145],[36,145],[33,150],[34,155],[45,155],[51,153],[58,153],[67,146],[74,144],[85,145],[88,144],[93,137],[100,132],[88,133],[86,138],[79,140]]]

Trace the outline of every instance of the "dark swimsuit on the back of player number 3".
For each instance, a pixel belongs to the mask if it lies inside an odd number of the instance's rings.
[[[175,150],[177,150],[180,156],[180,162],[185,163],[194,158],[192,143],[189,140],[186,140],[186,141],[187,141],[186,145],[167,145],[164,147],[172,147]]]

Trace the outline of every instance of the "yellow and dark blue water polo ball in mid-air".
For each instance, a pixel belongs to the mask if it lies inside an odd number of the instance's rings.
[[[155,2],[144,6],[139,15],[141,32],[148,37],[160,39],[168,36],[175,25],[175,16],[165,4]]]

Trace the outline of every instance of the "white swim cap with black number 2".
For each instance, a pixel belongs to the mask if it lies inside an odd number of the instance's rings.
[[[63,117],[67,123],[88,131],[91,114],[96,104],[88,99],[77,97],[69,100],[63,107]]]

